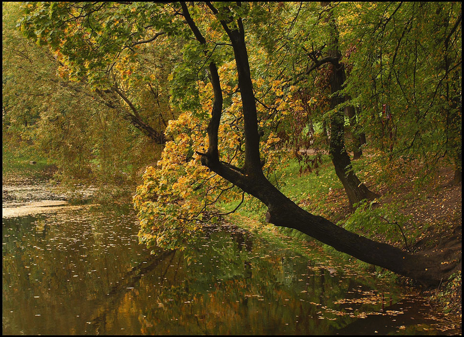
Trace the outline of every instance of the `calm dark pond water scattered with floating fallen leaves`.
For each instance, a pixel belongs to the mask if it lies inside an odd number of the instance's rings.
[[[45,177],[3,177],[3,334],[461,333],[418,294],[311,244],[223,225],[150,255],[132,205],[71,206]]]

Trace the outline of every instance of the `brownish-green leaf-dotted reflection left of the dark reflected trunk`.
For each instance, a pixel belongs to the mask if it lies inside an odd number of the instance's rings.
[[[26,334],[46,334],[50,330],[42,329],[52,326],[58,334],[84,332],[88,301],[105,298],[142,252],[130,238],[136,234],[133,220],[130,226],[125,222],[130,215],[115,213],[114,207],[84,216],[63,209],[46,217],[3,219],[3,284],[10,285],[3,289],[3,305],[11,308],[12,326],[24,326]]]

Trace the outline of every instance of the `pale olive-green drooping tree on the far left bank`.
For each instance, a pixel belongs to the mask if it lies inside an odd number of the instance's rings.
[[[56,55],[46,45],[37,45],[22,36],[16,27],[20,3],[4,3],[2,12],[5,149],[28,152],[30,156],[40,154],[58,166],[61,178],[88,178],[92,183],[109,182],[111,176],[124,178],[120,171],[134,161],[138,165],[153,161],[141,160],[139,156],[147,158],[148,152],[151,155],[161,152],[156,143],[166,142],[162,134],[167,125],[164,116],[157,114],[150,118],[150,124],[156,126],[147,125],[148,131],[153,130],[152,136],[139,138],[137,129],[143,130],[145,122],[136,123],[139,119],[117,93],[97,92],[86,81],[72,82],[60,76],[63,64]],[[164,52],[151,51],[143,57],[150,59],[150,63],[152,60],[159,63]],[[164,69],[157,74],[166,80],[169,72]],[[127,95],[126,89],[121,92]],[[169,112],[169,118],[174,117],[169,97],[158,85],[146,86],[138,92],[141,109],[152,111],[156,107],[155,111],[163,110]]]

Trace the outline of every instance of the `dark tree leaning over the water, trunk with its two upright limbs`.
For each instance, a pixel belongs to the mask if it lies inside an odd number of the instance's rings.
[[[218,11],[211,5],[214,14]],[[200,43],[206,43],[201,32],[190,17],[188,6],[181,3],[183,15]],[[230,12],[221,8],[220,18],[227,18]],[[219,17],[219,16],[218,16]],[[293,228],[315,239],[328,244],[340,252],[350,254],[362,261],[371,263],[395,273],[412,277],[423,285],[439,284],[443,277],[449,275],[458,262],[441,264],[446,258],[454,257],[453,252],[446,251],[432,256],[411,254],[393,246],[370,240],[358,234],[348,232],[331,221],[298,207],[292,200],[282,194],[264,176],[259,160],[259,136],[256,119],[256,105],[248,64],[247,48],[241,19],[236,27],[229,28],[232,21],[221,20],[227,32],[234,51],[237,69],[239,69],[238,84],[243,102],[243,117],[245,123],[246,155],[243,168],[235,168],[221,162],[218,153],[218,126],[222,114],[222,90],[216,65],[210,63],[211,84],[214,92],[214,103],[211,120],[208,126],[209,149],[207,153],[197,152],[202,156],[201,162],[211,171],[232,182],[243,191],[255,196],[268,206],[266,221],[276,226]],[[337,121],[340,124],[339,121]],[[346,155],[346,152],[345,152]]]

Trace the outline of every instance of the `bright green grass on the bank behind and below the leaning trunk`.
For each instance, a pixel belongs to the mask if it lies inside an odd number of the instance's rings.
[[[359,177],[364,179],[367,172],[363,172],[362,168],[365,167],[367,162],[366,158],[361,158],[356,161],[356,166],[360,168]],[[355,217],[351,221],[350,230],[354,232],[359,232],[361,235],[368,236],[370,238],[375,238],[378,234],[379,228],[382,228],[385,232],[385,236],[390,238],[392,242],[402,242],[401,233],[397,230],[395,226],[388,224],[380,224],[381,221],[379,218],[374,217],[374,215],[382,215],[391,217],[393,214],[398,212],[398,209],[402,206],[402,201],[398,200],[392,202],[391,204],[382,205],[382,208],[372,209],[370,211],[358,211],[355,213],[347,213],[347,203],[348,199],[343,190],[343,186],[337,175],[335,169],[328,155],[322,157],[322,164],[318,169],[318,174],[315,171],[312,173],[299,173],[299,165],[296,160],[290,160],[282,166],[276,172],[278,187],[291,200],[296,204],[299,204],[304,210],[309,211],[316,215],[321,215],[329,220],[337,222],[337,219],[340,220],[338,225],[343,225],[345,222],[349,222],[351,217]],[[275,180],[272,181],[275,185]],[[379,182],[380,183],[380,182]],[[221,203],[218,205],[219,208],[225,211],[232,211],[238,204],[238,201],[231,201],[229,203]],[[240,217],[246,218],[254,221],[257,224],[261,224],[259,228],[263,230],[271,230],[271,232],[279,232],[284,235],[291,236],[295,238],[296,242],[298,241],[315,241],[315,239],[310,236],[296,231],[294,229],[288,229],[283,227],[274,227],[274,225],[269,225],[265,223],[265,213],[267,209],[264,204],[262,204],[256,198],[248,196],[245,199],[242,207],[239,208],[235,213],[237,216],[233,217],[234,222],[240,222],[238,220]],[[365,218],[363,218],[363,216]],[[374,219],[374,220],[373,220]],[[369,221],[367,221],[369,220]],[[377,221],[375,221],[377,220]],[[363,232],[361,229],[356,227],[357,223],[366,224],[363,226],[363,229],[367,229],[367,232]],[[254,226],[250,224],[250,221],[242,223],[242,226],[247,227],[248,229],[256,230]],[[390,226],[390,227],[389,227]],[[410,235],[417,237],[419,233],[409,233]],[[411,236],[410,236],[411,237]],[[352,256],[349,256],[345,253],[336,251],[334,248],[320,243],[324,251],[329,253],[332,256],[337,256],[345,260],[353,259]],[[380,277],[386,278],[395,278],[395,274],[388,271],[383,271],[380,267],[374,267],[362,261],[359,261],[359,267],[361,269],[367,269],[369,271],[376,271]]]

